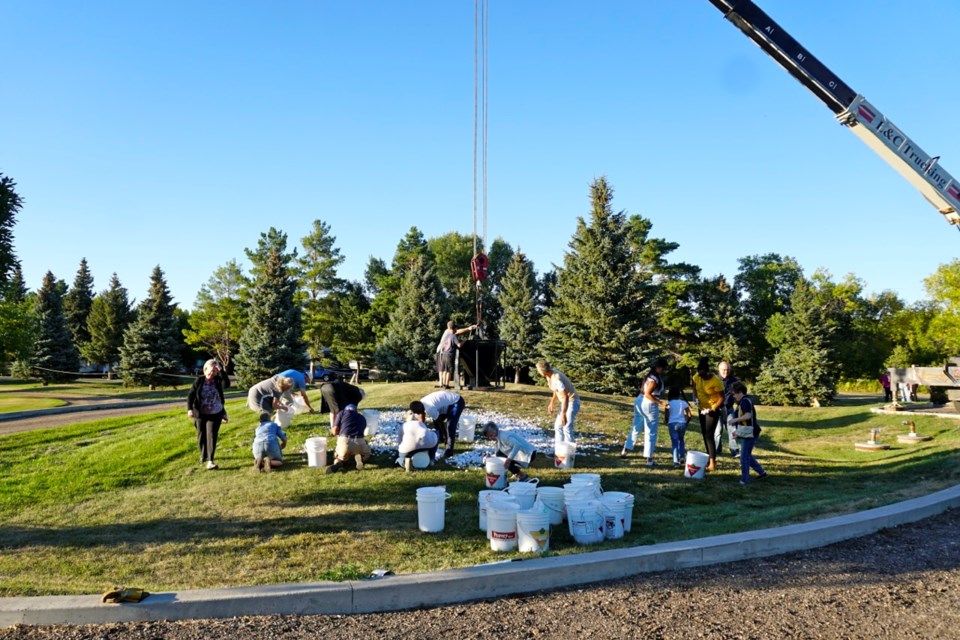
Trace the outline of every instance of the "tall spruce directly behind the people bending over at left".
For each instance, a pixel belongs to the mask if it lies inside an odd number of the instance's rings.
[[[290,269],[296,250],[288,253],[287,235],[271,227],[260,234],[257,248],[246,253],[254,277],[235,362],[240,383],[252,386],[284,369],[306,369],[309,360]]]

